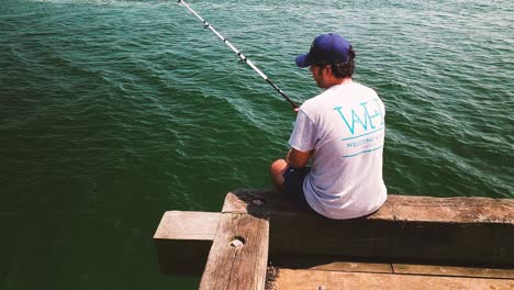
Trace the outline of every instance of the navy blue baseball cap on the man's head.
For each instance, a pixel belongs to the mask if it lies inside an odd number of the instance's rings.
[[[294,62],[299,67],[309,67],[321,60],[328,64],[345,63],[350,47],[349,42],[340,35],[322,34],[312,42],[309,53],[298,56]]]

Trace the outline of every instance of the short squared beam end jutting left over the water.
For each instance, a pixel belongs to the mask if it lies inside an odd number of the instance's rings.
[[[220,216],[219,212],[165,212],[154,235],[160,272],[200,276]]]

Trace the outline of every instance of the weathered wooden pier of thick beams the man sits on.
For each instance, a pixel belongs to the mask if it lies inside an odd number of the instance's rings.
[[[199,289],[514,289],[514,200],[389,196],[335,221],[236,190],[221,212],[166,212],[163,274]]]

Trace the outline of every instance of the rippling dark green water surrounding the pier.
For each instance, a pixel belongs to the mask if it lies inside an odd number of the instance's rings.
[[[514,198],[514,2],[193,1],[298,102],[321,33],[387,107],[390,193]],[[167,210],[269,188],[294,113],[176,1],[0,2],[0,289],[195,289],[158,274]]]

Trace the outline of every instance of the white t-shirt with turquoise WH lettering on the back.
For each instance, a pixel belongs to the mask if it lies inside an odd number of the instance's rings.
[[[303,191],[317,213],[353,219],[386,202],[384,116],[377,92],[357,82],[333,86],[300,107],[289,145],[313,150]]]

